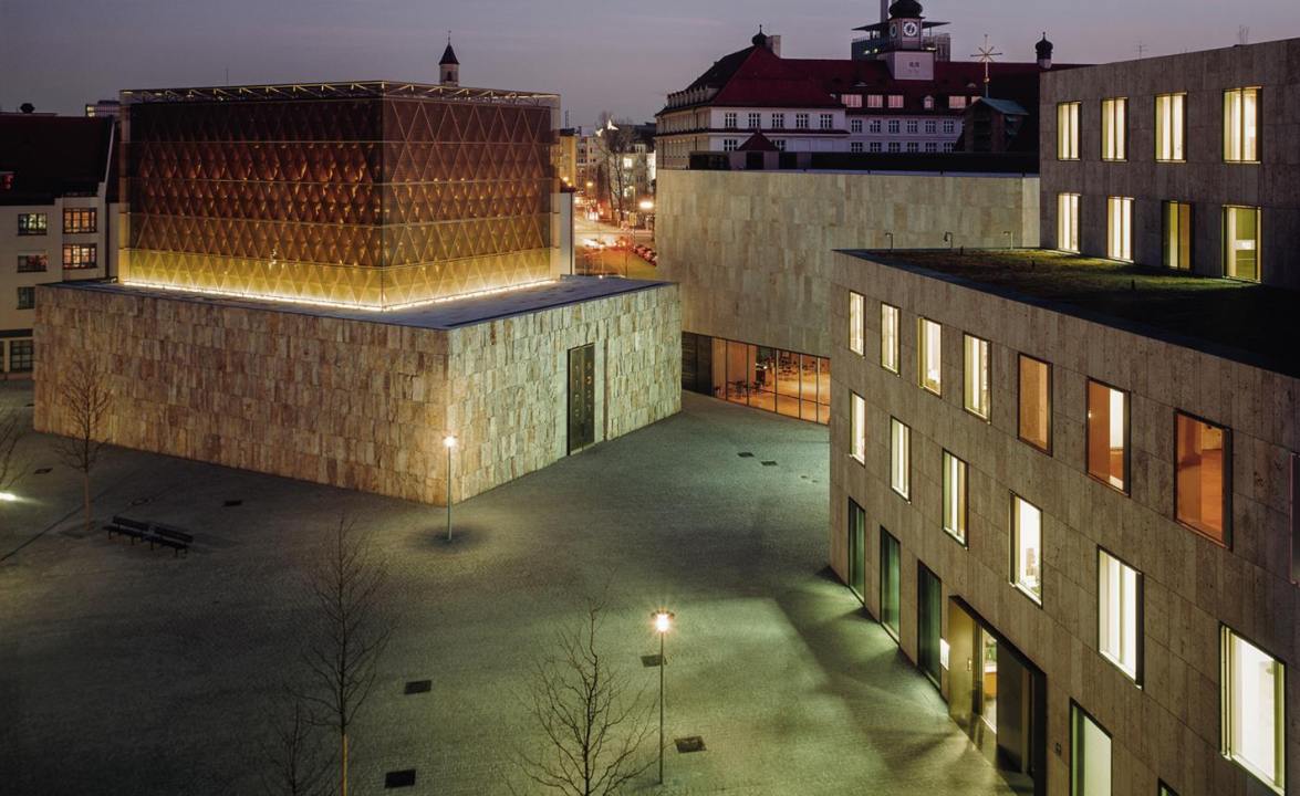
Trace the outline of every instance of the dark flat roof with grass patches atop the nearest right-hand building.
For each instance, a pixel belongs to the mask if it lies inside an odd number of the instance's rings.
[[[844,253],[1300,378],[1300,291],[1050,249]]]

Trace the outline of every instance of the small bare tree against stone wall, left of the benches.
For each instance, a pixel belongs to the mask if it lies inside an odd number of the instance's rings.
[[[56,443],[55,453],[65,465],[82,474],[86,530],[90,531],[90,474],[108,444],[103,439],[104,419],[113,393],[109,391],[108,373],[87,352],[73,356],[62,371],[58,404],[66,416],[69,434]]]

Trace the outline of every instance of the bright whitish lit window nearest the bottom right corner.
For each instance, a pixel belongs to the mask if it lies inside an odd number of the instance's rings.
[[[1286,667],[1282,661],[1222,630],[1223,754],[1286,792]]]

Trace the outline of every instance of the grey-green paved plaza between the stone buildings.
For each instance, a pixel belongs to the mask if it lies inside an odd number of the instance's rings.
[[[6,405],[30,396],[0,386]],[[53,469],[0,504],[6,796],[259,792],[266,704],[302,673],[302,562],[341,512],[389,560],[398,621],[352,736],[355,793],[396,769],[417,771],[398,793],[508,792],[529,662],[606,583],[607,648],[650,695],[650,612],[676,612],[668,738],[707,747],[670,751],[666,787],[651,769],[634,792],[1008,792],[828,574],[822,426],[688,393],[676,417],[456,506],[450,545],[441,509],[112,451],[96,516],[186,527],[188,558],[84,535],[49,438],[22,452]],[[404,696],[417,679],[432,691]]]

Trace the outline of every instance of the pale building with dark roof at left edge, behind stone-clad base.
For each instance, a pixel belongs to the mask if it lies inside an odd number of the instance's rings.
[[[112,118],[0,114],[0,373],[35,356],[36,286],[114,273]]]

